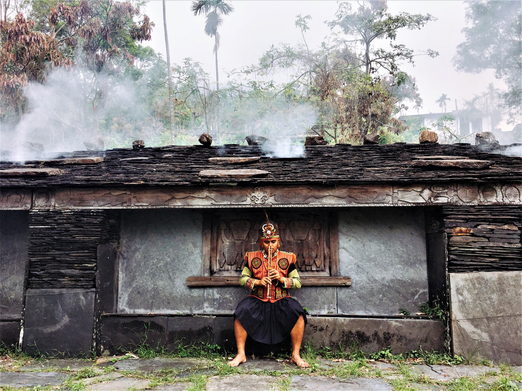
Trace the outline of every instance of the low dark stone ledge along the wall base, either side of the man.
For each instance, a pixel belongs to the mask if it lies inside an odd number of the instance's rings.
[[[111,354],[135,348],[144,341],[152,347],[165,346],[174,350],[180,340],[185,345],[217,344],[234,351],[233,316],[102,316],[103,351]],[[306,342],[333,350],[340,346],[345,349],[355,347],[368,353],[389,347],[394,353],[421,347],[443,351],[444,324],[438,320],[310,316],[303,339],[303,343]],[[252,345],[249,347],[248,344],[252,342],[247,341],[246,346],[252,352]],[[263,347],[256,345],[256,348]]]

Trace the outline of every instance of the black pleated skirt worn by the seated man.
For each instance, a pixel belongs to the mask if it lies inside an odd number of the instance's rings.
[[[263,344],[279,344],[290,336],[292,328],[306,311],[297,300],[283,297],[274,303],[248,296],[241,300],[234,312],[246,334]]]

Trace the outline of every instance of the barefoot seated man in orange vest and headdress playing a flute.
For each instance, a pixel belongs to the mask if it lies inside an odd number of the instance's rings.
[[[240,285],[251,289],[234,315],[235,340],[238,355],[230,362],[238,366],[246,361],[245,341],[252,339],[264,344],[278,344],[292,339],[290,363],[307,368],[310,365],[299,355],[306,314],[297,300],[290,298],[288,289],[301,288],[301,279],[295,268],[295,254],[279,251],[279,235],[274,225],[263,226],[261,251],[245,254],[246,266]]]

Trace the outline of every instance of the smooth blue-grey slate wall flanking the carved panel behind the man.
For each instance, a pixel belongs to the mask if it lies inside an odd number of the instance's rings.
[[[419,208],[353,208],[339,215],[340,272],[352,286],[291,295],[313,315],[393,315],[428,301],[424,214]],[[187,288],[201,275],[203,218],[191,210],[122,213],[118,313],[230,315],[247,290]]]

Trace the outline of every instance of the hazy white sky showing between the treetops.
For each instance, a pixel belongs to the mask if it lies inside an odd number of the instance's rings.
[[[168,0],[167,22],[171,62],[180,63],[191,57],[203,64],[212,79],[215,78],[215,64],[212,53],[213,39],[204,33],[205,17],[195,17],[190,10],[191,1]],[[280,42],[295,44],[302,42],[301,32],[295,28],[298,14],[311,15],[310,30],[306,41],[310,48],[317,47],[330,34],[324,21],[334,19],[338,8],[336,0],[231,0],[234,12],[224,17],[219,30],[221,45],[218,52],[220,82],[226,82],[225,71],[251,65],[270,47]],[[355,6],[357,3],[353,2]],[[142,11],[156,27],[152,31],[149,44],[157,52],[165,54],[163,33],[163,8],[160,0],[151,0]],[[462,108],[464,100],[473,94],[485,91],[493,82],[495,87],[504,88],[501,80],[493,72],[479,75],[456,72],[452,57],[456,46],[464,40],[461,29],[465,26],[465,4],[456,0],[388,0],[388,11],[411,14],[432,14],[438,20],[428,23],[421,30],[406,30],[397,36],[397,43],[404,43],[414,50],[431,48],[440,53],[436,58],[416,57],[414,67],[405,65],[402,69],[417,80],[419,92],[424,100],[421,113],[436,113],[441,109],[435,101],[445,93],[451,99],[447,109]],[[407,114],[417,114],[412,108]]]

